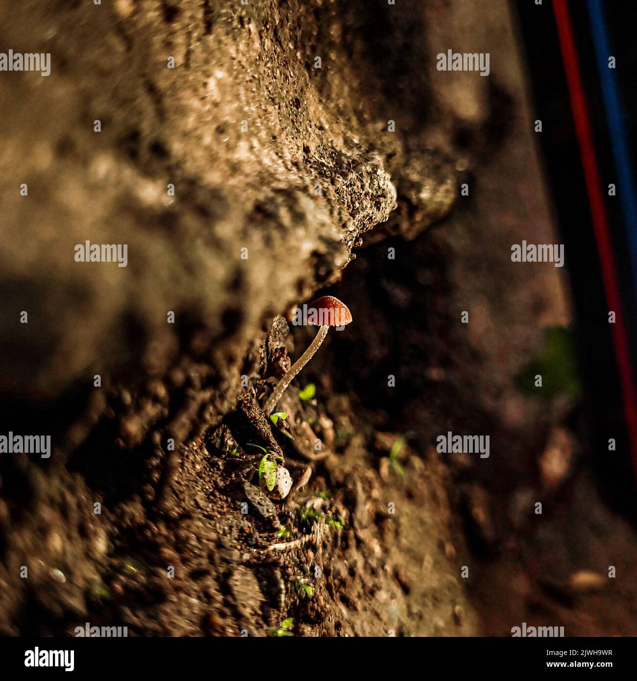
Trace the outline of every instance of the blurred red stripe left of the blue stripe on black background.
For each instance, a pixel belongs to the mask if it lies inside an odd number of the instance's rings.
[[[615,259],[612,256],[612,244],[608,232],[608,219],[600,183],[600,174],[597,172],[597,160],[595,159],[595,145],[591,122],[587,112],[584,86],[577,59],[577,50],[573,39],[573,31],[568,7],[565,0],[553,0],[553,12],[557,23],[559,44],[562,52],[562,61],[568,92],[571,101],[571,110],[575,121],[575,131],[580,147],[580,157],[586,182],[589,205],[597,251],[600,254],[604,289],[606,289],[606,301],[610,310],[615,311],[615,324],[612,325],[612,338],[615,343],[615,354],[621,379],[623,393],[624,415],[630,437],[630,449],[632,452],[633,469],[637,478],[637,394],[630,365],[630,353],[628,351],[628,337],[623,323],[621,311],[621,299],[619,297],[619,283],[617,281],[617,269]]]

